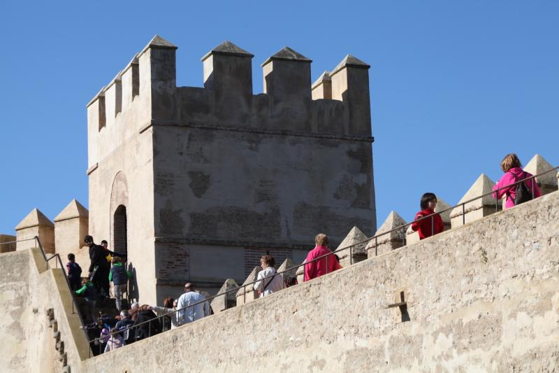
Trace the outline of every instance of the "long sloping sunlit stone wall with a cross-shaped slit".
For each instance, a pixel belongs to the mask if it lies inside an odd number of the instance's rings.
[[[553,370],[558,253],[554,192],[89,359],[82,371]],[[401,291],[409,321],[386,308]]]

